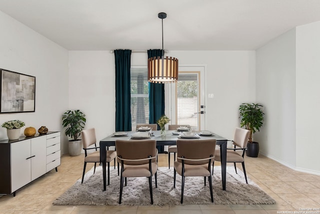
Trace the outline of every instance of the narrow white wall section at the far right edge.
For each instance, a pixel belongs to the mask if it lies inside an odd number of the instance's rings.
[[[296,28],[296,167],[320,174],[320,22]]]

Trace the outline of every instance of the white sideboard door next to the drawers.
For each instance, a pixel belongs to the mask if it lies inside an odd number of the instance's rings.
[[[46,136],[31,139],[31,181],[46,172]]]

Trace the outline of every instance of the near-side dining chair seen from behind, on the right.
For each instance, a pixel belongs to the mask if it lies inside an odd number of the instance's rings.
[[[206,177],[209,180],[211,202],[213,202],[211,165],[214,161],[215,139],[207,140],[182,140],[177,139],[177,160],[174,161],[173,188],[175,188],[176,172],[181,175],[181,203],[183,202],[184,178]]]

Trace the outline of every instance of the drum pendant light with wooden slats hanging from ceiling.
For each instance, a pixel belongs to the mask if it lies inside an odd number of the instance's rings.
[[[150,57],[148,59],[148,81],[151,83],[172,83],[178,80],[178,59],[164,58],[163,50],[163,19],[166,13],[159,13],[162,20],[162,57]]]

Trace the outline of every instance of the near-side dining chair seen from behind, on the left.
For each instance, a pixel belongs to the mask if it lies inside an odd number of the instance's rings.
[[[122,197],[123,178],[126,180],[127,177],[148,178],[150,199],[151,204],[153,204],[152,175],[155,178],[156,188],[156,171],[158,168],[155,145],[155,140],[115,140],[117,161],[121,163],[119,204]]]

